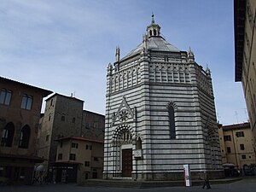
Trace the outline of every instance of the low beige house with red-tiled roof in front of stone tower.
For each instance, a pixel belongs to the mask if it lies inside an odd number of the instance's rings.
[[[55,182],[84,183],[86,179],[102,178],[103,141],[84,137],[62,137],[57,156],[51,164]]]

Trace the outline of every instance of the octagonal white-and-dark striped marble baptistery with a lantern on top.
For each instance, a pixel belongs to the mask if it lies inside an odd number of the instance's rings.
[[[222,177],[210,69],[191,49],[169,44],[152,22],[143,43],[109,63],[104,145],[105,178]]]

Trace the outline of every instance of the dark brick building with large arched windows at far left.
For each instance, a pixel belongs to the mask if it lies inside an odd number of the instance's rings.
[[[42,101],[52,93],[0,77],[0,179],[32,183]],[[1,182],[1,181],[0,181]]]

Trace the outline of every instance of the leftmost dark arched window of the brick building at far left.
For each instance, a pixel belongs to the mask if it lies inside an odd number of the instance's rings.
[[[12,147],[14,135],[15,135],[15,125],[10,122],[7,125],[5,125],[3,129],[1,146]]]

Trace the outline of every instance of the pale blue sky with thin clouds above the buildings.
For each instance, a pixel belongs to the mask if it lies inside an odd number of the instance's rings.
[[[151,23],[212,72],[217,119],[247,122],[235,82],[232,0],[1,0],[0,76],[84,101],[105,114],[108,63],[143,42]],[[43,109],[44,111],[44,106]]]

